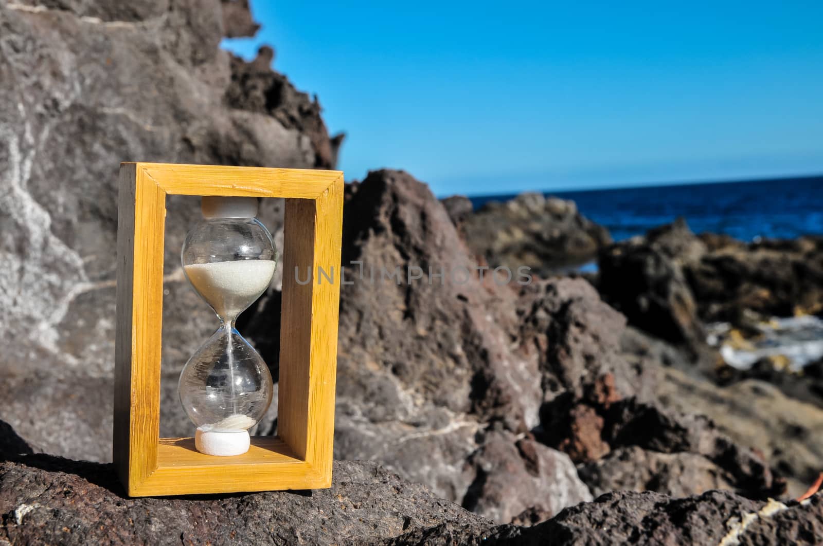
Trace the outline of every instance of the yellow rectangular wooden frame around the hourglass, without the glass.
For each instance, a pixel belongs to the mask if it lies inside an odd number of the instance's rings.
[[[277,437],[203,455],[160,439],[165,196],[286,197]],[[328,488],[332,480],[343,174],[212,165],[120,165],[114,465],[131,496]],[[296,282],[295,266],[313,272]],[[338,274],[339,276],[339,274]]]

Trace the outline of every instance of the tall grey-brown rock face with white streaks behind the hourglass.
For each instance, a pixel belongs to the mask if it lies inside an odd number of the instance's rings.
[[[0,400],[11,400],[0,418],[37,445],[110,458],[100,393],[112,391],[121,161],[332,166],[317,102],[267,67],[267,50],[244,62],[219,48],[255,27],[248,2],[0,2]],[[179,269],[198,201],[167,207],[163,389],[174,400],[217,323]],[[262,215],[275,232],[276,207]],[[191,433],[176,406],[164,405],[165,435]]]

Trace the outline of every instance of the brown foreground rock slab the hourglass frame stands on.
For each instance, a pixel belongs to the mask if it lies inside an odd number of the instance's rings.
[[[0,462],[0,514],[12,544],[374,544],[492,528],[379,465],[343,461],[329,489],[128,498],[112,465],[24,456]]]

